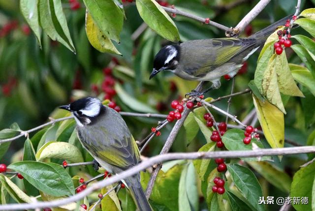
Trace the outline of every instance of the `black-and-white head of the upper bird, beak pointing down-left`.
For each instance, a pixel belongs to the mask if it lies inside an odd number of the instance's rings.
[[[175,70],[180,59],[180,46],[167,45],[154,58],[150,79],[163,70]]]

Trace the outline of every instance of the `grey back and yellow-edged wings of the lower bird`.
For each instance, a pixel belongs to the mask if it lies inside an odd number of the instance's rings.
[[[106,113],[89,129],[78,130],[82,144],[99,159],[120,169],[136,165],[140,152],[126,122],[114,110]]]

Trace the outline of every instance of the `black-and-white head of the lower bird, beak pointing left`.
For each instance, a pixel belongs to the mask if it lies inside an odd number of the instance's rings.
[[[70,111],[79,126],[90,124],[101,113],[102,102],[95,97],[85,97],[69,105],[60,106],[60,109]]]

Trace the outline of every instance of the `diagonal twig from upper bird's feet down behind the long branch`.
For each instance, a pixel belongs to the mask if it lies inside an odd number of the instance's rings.
[[[198,86],[196,87],[196,91],[200,91],[202,90],[202,85],[203,85],[203,82],[200,82],[198,84]],[[177,136],[177,133],[179,132],[179,130],[181,129],[182,125],[184,124],[184,121],[186,120],[186,118],[188,117],[189,115],[189,112],[190,112],[190,109],[188,109],[187,107],[185,107],[183,113],[182,113],[182,118],[178,121],[176,121],[173,129],[171,130],[170,134],[168,135],[167,137],[167,140],[162,148],[162,150],[160,151],[160,154],[165,154],[167,153],[170,149],[171,149],[171,146]],[[150,180],[148,182],[148,186],[147,186],[147,190],[146,190],[146,197],[147,199],[150,198],[150,195],[151,195],[151,192],[153,190],[153,185],[154,185],[154,182],[156,181],[157,179],[157,176],[158,176],[158,171],[162,168],[162,165],[159,164],[152,172],[151,174],[151,177],[150,177]]]

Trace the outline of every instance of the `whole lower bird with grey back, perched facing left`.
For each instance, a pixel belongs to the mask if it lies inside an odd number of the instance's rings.
[[[84,148],[109,173],[120,174],[140,162],[140,152],[126,122],[95,97],[59,107],[72,113]],[[152,211],[140,183],[140,173],[125,179],[138,211]]]

